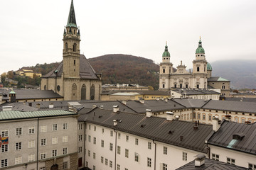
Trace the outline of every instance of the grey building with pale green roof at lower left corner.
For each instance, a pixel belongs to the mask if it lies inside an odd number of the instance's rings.
[[[0,112],[1,169],[78,168],[78,113],[10,110]]]

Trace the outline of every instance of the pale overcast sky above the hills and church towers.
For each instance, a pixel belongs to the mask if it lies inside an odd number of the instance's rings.
[[[60,62],[71,0],[9,0],[0,10],[0,74]],[[206,60],[255,60],[255,0],[74,0],[85,57],[125,54],[192,67],[199,36]],[[214,68],[213,68],[214,69]]]

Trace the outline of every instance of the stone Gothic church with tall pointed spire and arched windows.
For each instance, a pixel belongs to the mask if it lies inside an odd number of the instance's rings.
[[[75,21],[73,0],[63,33],[63,61],[41,78],[41,90],[53,90],[70,100],[100,100],[101,74],[97,74],[85,55],[80,55],[80,30]]]

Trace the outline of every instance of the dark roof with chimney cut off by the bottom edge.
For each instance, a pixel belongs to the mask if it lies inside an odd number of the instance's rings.
[[[246,168],[243,168],[241,166],[237,166],[237,165],[232,165],[232,164],[227,164],[225,162],[219,162],[219,161],[215,161],[213,159],[205,159],[205,164],[203,164],[202,166],[196,167],[195,166],[195,161],[191,161],[188,162],[188,164],[185,164],[181,167],[179,167],[178,169],[184,169],[184,170],[244,170]],[[176,169],[176,170],[178,170]]]

